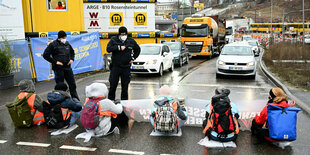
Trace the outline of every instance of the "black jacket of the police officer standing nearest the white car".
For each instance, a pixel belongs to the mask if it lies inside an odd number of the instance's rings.
[[[126,46],[126,49],[122,51],[121,46]],[[112,53],[112,66],[129,68],[129,62],[139,56],[140,46],[131,37],[122,42],[118,36],[114,36],[108,43],[107,51]]]

